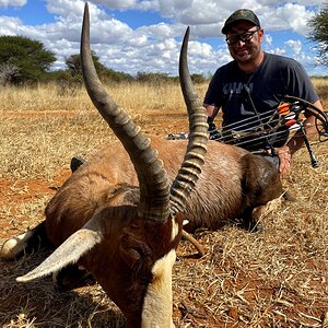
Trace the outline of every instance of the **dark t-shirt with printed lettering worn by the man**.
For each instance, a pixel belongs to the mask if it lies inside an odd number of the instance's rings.
[[[270,118],[272,120],[285,95],[301,97],[309,103],[319,99],[297,61],[265,52],[262,63],[251,73],[242,71],[236,61],[219,68],[210,82],[204,104],[222,108],[223,131],[247,131]],[[283,138],[280,133],[280,143],[283,144],[286,138],[288,133]],[[257,144],[256,148],[260,147]]]

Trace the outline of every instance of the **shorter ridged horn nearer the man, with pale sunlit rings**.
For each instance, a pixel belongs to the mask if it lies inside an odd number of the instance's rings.
[[[184,162],[171,188],[171,212],[184,211],[187,197],[194,189],[204,163],[208,141],[206,109],[195,91],[188,69],[188,40],[190,28],[184,37],[179,58],[180,86],[189,116],[189,138]]]

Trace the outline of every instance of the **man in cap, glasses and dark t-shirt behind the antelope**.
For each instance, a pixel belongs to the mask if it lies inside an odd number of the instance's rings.
[[[298,62],[263,52],[263,30],[251,10],[235,11],[225,21],[222,33],[226,36],[234,60],[216,70],[207,91],[204,107],[210,129],[215,127],[213,119],[222,108],[223,133],[256,130],[256,126],[269,120],[285,95],[303,98],[323,109],[309,78]],[[304,127],[307,136],[315,134],[314,122],[314,116],[306,114]],[[296,133],[285,143],[288,131],[272,134],[272,138],[262,138],[261,144],[253,142],[251,147],[250,142],[248,145],[250,150],[258,150],[258,147],[272,156],[277,154],[277,166],[283,177],[290,172],[292,155],[304,144],[304,140]],[[268,151],[269,145],[271,151]]]

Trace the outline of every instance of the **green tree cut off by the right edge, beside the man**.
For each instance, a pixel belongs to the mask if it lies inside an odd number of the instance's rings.
[[[328,66],[328,8],[308,21],[312,33],[308,39],[318,43],[319,60]]]

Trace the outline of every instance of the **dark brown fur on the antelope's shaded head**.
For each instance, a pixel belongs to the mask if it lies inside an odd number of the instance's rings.
[[[106,230],[104,241],[79,261],[121,309],[128,327],[140,327],[154,262],[175,249],[179,241],[178,235],[171,242],[172,220],[163,225],[137,219],[136,214],[134,207],[105,208],[99,213]]]

